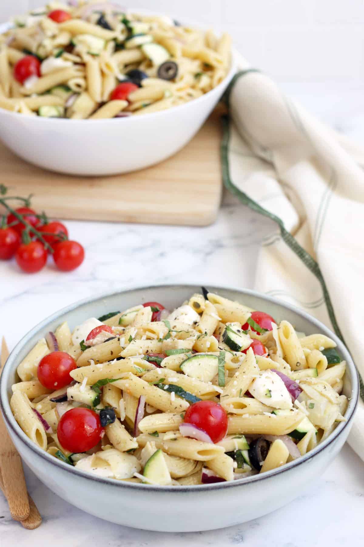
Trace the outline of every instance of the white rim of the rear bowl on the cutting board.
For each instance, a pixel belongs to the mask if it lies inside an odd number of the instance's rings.
[[[163,15],[162,13],[158,13],[157,11],[153,11],[153,10],[148,10],[148,9],[138,9],[138,13],[146,13],[146,14],[155,14],[155,15]],[[172,17],[173,18],[173,17]],[[6,32],[6,31],[1,31],[1,27],[4,26],[5,27],[6,23],[0,25],[0,34],[2,32]],[[192,24],[192,26],[196,26],[197,28],[203,28],[202,25],[195,25],[195,24]],[[181,109],[181,108],[186,108],[188,107],[189,104],[193,103],[195,104],[195,101],[199,101],[199,102],[202,102],[202,100],[208,100],[208,97],[213,93],[213,92],[217,92],[219,91],[220,89],[224,88],[224,86],[226,85],[226,81],[228,82],[228,85],[232,79],[232,77],[234,76],[235,72],[236,72],[236,67],[237,67],[237,56],[238,56],[238,52],[235,48],[231,48],[231,63],[230,63],[230,70],[228,72],[228,74],[226,74],[225,78],[222,80],[222,82],[220,82],[216,87],[214,87],[213,89],[211,89],[210,91],[207,91],[207,93],[204,93],[204,95],[201,95],[201,97],[197,97],[195,99],[193,99],[192,101],[188,101],[186,103],[183,103],[183,104],[178,104],[177,106],[174,106],[174,107],[171,107],[171,108],[167,108],[166,110],[160,110],[159,112],[150,112],[149,114],[147,113],[146,116],[148,117],[148,119],[150,119],[152,116],[153,117],[158,117],[159,115],[163,115],[165,114],[166,112],[170,112],[170,110],[172,110],[173,112],[175,112],[176,109]],[[14,117],[14,116],[19,116],[21,114],[19,114],[19,112],[11,112],[11,110],[7,110],[5,108],[1,108],[0,107],[0,113],[3,113],[3,114],[8,114],[9,116],[11,117]],[[115,123],[115,118],[111,118],[111,119],[97,119],[97,120],[70,120],[68,118],[42,118],[41,116],[28,116],[27,119],[31,119],[31,120],[43,120],[41,121],[41,123],[47,123],[47,124],[59,124],[59,123],[64,123],[67,121],[67,123],[72,123],[73,125],[75,124],[80,124],[82,123],[85,124],[85,121],[87,121],[87,124],[89,123],[107,123],[107,124],[112,124],[112,123]],[[125,118],[123,118],[123,125],[122,126],[125,126],[127,125],[128,123],[130,123],[131,120],[134,120],[134,116],[127,116]],[[39,123],[36,122],[36,123]]]

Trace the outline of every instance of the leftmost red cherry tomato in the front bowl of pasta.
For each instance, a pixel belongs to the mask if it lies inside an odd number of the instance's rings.
[[[41,385],[48,389],[61,389],[73,381],[69,375],[77,368],[76,362],[65,351],[52,351],[40,360],[37,376]]]

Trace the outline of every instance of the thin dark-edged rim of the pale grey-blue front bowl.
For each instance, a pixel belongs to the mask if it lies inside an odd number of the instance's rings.
[[[124,290],[112,290],[107,293],[102,293],[97,296],[94,296],[93,298],[85,298],[80,301],[74,302],[74,304],[71,304],[69,306],[65,306],[63,309],[53,313],[51,316],[47,317],[35,327],[33,327],[23,338],[18,342],[18,344],[15,346],[14,350],[10,353],[10,356],[7,360],[7,362],[4,365],[3,373],[0,378],[0,406],[3,411],[3,416],[5,419],[5,422],[7,422],[8,427],[13,431],[13,433],[16,435],[16,437],[19,437],[19,439],[25,443],[29,449],[31,449],[33,452],[35,452],[39,457],[46,459],[50,464],[56,465],[60,469],[63,469],[64,471],[67,471],[68,473],[76,473],[76,475],[80,475],[85,479],[101,482],[103,484],[109,485],[109,486],[115,486],[118,488],[132,488],[136,490],[145,490],[145,488],[148,489],[148,491],[154,491],[154,492],[200,492],[200,491],[206,491],[206,490],[220,490],[223,488],[234,488],[234,487],[243,487],[244,484],[251,484],[256,481],[264,481],[271,479],[273,476],[284,473],[285,471],[288,471],[289,469],[292,469],[294,467],[297,467],[297,465],[301,465],[303,463],[306,463],[308,461],[311,461],[311,459],[317,455],[319,452],[326,449],[327,446],[329,446],[335,439],[339,437],[339,435],[343,432],[345,427],[348,427],[350,422],[353,420],[354,413],[356,410],[356,406],[359,399],[359,376],[357,374],[356,366],[353,362],[353,359],[350,356],[350,353],[348,349],[345,347],[343,342],[338,339],[338,337],[331,332],[330,329],[328,329],[323,323],[318,321],[318,319],[315,319],[314,317],[310,316],[308,313],[298,309],[295,306],[292,306],[290,304],[287,304],[286,302],[282,302],[281,300],[278,300],[276,298],[272,298],[272,296],[266,296],[263,293],[259,293],[258,291],[251,290],[251,289],[241,289],[237,287],[228,287],[228,286],[212,286],[212,290],[218,292],[219,290],[232,290],[237,293],[240,293],[241,295],[249,295],[249,296],[256,296],[258,298],[262,298],[266,300],[268,303],[271,304],[277,304],[279,306],[283,306],[284,308],[297,313],[297,315],[301,316],[303,319],[306,319],[310,321],[315,327],[318,328],[318,331],[323,332],[326,334],[326,336],[331,337],[337,344],[339,351],[342,353],[344,359],[347,361],[348,367],[350,369],[351,373],[351,385],[352,385],[352,394],[351,398],[349,400],[347,411],[345,412],[345,418],[347,418],[347,421],[340,422],[336,429],[329,435],[329,437],[323,441],[323,443],[320,443],[315,447],[313,450],[308,452],[306,455],[301,456],[300,458],[297,458],[296,460],[289,462],[282,467],[278,469],[273,469],[271,471],[268,471],[262,475],[257,474],[253,476],[249,476],[247,478],[237,479],[234,481],[226,481],[226,482],[216,482],[213,484],[206,484],[206,485],[193,485],[193,486],[179,486],[178,488],[175,486],[159,486],[159,485],[148,485],[148,484],[138,484],[133,482],[126,482],[126,481],[120,481],[117,479],[107,479],[102,478],[97,475],[93,475],[91,473],[87,473],[85,471],[81,471],[79,469],[75,469],[74,467],[70,467],[69,464],[62,462],[61,460],[55,458],[54,456],[51,456],[44,450],[41,450],[31,439],[27,437],[27,435],[23,432],[23,430],[20,428],[19,424],[17,424],[13,412],[11,412],[9,399],[8,399],[8,392],[6,387],[6,382],[8,379],[8,375],[10,374],[11,369],[13,368],[14,363],[16,362],[16,354],[18,351],[21,350],[21,348],[27,344],[28,340],[31,339],[31,337],[37,333],[38,330],[46,328],[47,324],[55,321],[59,316],[63,315],[64,313],[69,313],[73,310],[75,310],[77,307],[80,307],[84,304],[91,304],[91,302],[94,302],[96,300],[102,300],[104,298],[110,298],[111,296],[120,295],[123,293],[129,293],[133,292],[135,290],[147,290],[147,289],[168,289],[168,288],[184,288],[184,289],[190,289],[192,292],[195,292],[196,288],[199,287],[198,284],[178,284],[178,283],[164,283],[160,285],[151,285],[151,286],[136,286]]]

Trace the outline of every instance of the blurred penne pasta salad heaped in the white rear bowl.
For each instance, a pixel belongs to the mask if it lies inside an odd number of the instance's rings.
[[[217,38],[108,1],[50,2],[0,36],[0,107],[46,118],[158,112],[204,95],[230,68]]]

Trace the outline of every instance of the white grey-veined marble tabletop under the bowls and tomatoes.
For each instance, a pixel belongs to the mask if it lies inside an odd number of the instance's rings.
[[[364,142],[364,85],[311,83],[284,84],[282,88],[326,123]],[[62,274],[50,264],[40,274],[28,276],[14,263],[0,264],[0,335],[5,335],[10,349],[45,316],[105,290],[181,281],[253,287],[259,242],[275,230],[273,223],[227,195],[217,222],[207,228],[90,222],[67,225],[71,237],[86,248],[85,263],[75,272]],[[55,547],[163,547],[172,542],[176,547],[364,544],[364,468],[347,445],[317,484],[297,492],[296,501],[288,507],[213,532],[165,534],[112,525],[65,503],[28,469],[26,475],[43,524],[35,531],[23,529],[11,520],[0,494],[1,547],[43,547],[48,543]]]

